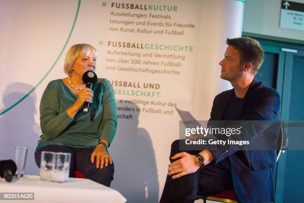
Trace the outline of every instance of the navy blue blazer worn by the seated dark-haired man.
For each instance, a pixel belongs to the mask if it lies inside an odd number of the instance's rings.
[[[234,89],[222,92],[214,99],[210,120],[223,120]],[[280,96],[261,82],[252,81],[239,108],[237,120],[278,120]],[[261,136],[265,129],[252,126],[249,140]],[[235,193],[242,203],[269,203],[275,201],[275,150],[211,151],[215,164],[226,157],[231,165]]]

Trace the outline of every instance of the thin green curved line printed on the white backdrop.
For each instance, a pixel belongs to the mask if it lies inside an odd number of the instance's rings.
[[[11,106],[9,106],[8,108],[6,108],[5,110],[3,110],[2,112],[0,112],[0,115],[6,113],[7,111],[9,111],[10,109],[12,109],[13,107],[15,107],[18,103],[22,102],[25,98],[27,98],[41,83],[42,81],[44,81],[44,79],[49,75],[49,73],[53,70],[53,68],[55,67],[55,65],[57,64],[58,60],[60,59],[62,53],[64,52],[64,50],[66,49],[67,47],[67,44],[68,42],[70,41],[70,37],[72,35],[72,32],[74,30],[74,27],[75,27],[75,24],[76,24],[76,21],[77,21],[77,17],[78,17],[78,11],[79,11],[79,7],[80,7],[80,3],[81,3],[81,0],[78,0],[78,5],[77,5],[77,10],[76,10],[76,15],[75,15],[75,18],[74,18],[74,22],[73,22],[73,26],[71,28],[71,31],[70,31],[70,34],[68,36],[68,39],[64,45],[64,47],[62,48],[59,56],[57,57],[56,61],[53,63],[53,65],[51,66],[50,70],[43,76],[43,78],[38,82],[38,84],[33,87],[26,95],[24,95],[19,101],[17,101],[16,103],[12,104]]]

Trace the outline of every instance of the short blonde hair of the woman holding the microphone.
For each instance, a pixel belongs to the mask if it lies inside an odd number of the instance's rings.
[[[97,57],[97,51],[96,49],[89,44],[75,44],[73,45],[66,55],[65,59],[65,65],[64,65],[64,71],[68,76],[71,76],[72,74],[72,68],[76,61],[76,59],[79,56],[82,56],[85,54],[88,56],[91,52],[93,52],[94,57]]]

